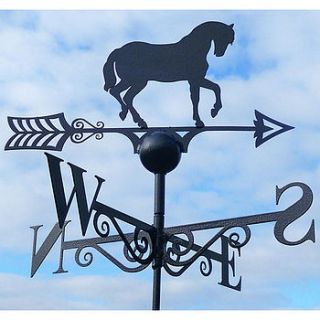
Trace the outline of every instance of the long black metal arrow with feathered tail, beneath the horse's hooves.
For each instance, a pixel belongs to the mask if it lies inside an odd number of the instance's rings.
[[[5,150],[53,150],[61,151],[68,138],[74,143],[82,143],[92,136],[97,140],[105,133],[125,135],[132,143],[134,152],[145,135],[164,131],[176,137],[182,151],[187,152],[190,141],[199,133],[207,131],[254,132],[256,148],[275,136],[294,127],[271,119],[255,110],[253,126],[205,126],[198,127],[151,127],[151,128],[106,128],[102,121],[95,125],[78,118],[70,125],[63,113],[43,117],[8,117],[8,124],[14,135],[7,141]]]

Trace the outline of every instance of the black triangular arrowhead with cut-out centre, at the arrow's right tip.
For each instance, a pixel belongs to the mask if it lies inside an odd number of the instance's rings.
[[[257,120],[254,120],[253,123],[256,127],[254,133],[256,148],[275,136],[294,129],[294,127],[271,119],[257,110],[255,110],[255,116]]]

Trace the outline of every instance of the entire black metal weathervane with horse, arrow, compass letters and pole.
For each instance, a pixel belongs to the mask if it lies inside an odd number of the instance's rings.
[[[152,308],[159,310],[162,268],[172,276],[180,276],[193,263],[200,261],[200,272],[209,276],[213,263],[218,263],[221,265],[219,284],[240,291],[242,278],[234,280],[235,253],[240,255],[241,248],[251,239],[252,225],[275,223],[274,236],[285,245],[299,245],[307,240],[315,242],[314,220],[301,239],[291,241],[284,235],[286,228],[304,215],[312,205],[312,190],[301,182],[276,188],[277,205],[288,189],[299,188],[302,191],[301,198],[284,210],[165,227],[165,176],[177,167],[181,153],[188,152],[189,143],[197,134],[215,131],[252,132],[256,139],[255,146],[259,147],[271,138],[293,129],[259,111],[255,111],[256,119],[251,126],[205,126],[200,119],[200,87],[215,93],[216,100],[211,110],[213,118],[222,107],[220,87],[205,78],[208,70],[206,56],[212,42],[214,54],[217,57],[224,55],[228,45],[234,41],[233,27],[233,24],[206,22],[177,43],[153,45],[132,42],[110,54],[103,68],[104,89],[119,101],[120,118],[125,120],[130,112],[138,128],[106,128],[102,121],[92,124],[83,118],[75,119],[70,125],[63,113],[32,118],[8,117],[8,124],[14,134],[7,141],[5,150],[61,151],[68,139],[74,143],[82,143],[90,137],[102,139],[105,134],[117,133],[125,135],[131,141],[134,153],[139,154],[143,166],[155,176],[154,221],[150,225],[101,202],[98,198],[105,181],[101,177],[95,176],[97,187],[93,198],[88,199],[83,179],[87,171],[71,163],[67,165],[72,173],[73,188],[70,195],[66,195],[61,174],[64,160],[46,152],[58,223],[41,246],[38,245],[38,232],[42,226],[31,227],[34,230],[32,277],[60,239],[59,266],[55,273],[67,272],[63,263],[64,252],[67,250],[76,250],[75,261],[82,267],[89,266],[93,261],[90,249],[126,272],[139,272],[152,265]],[[148,81],[188,81],[195,127],[148,128],[133,106],[134,97],[146,87]],[[97,237],[65,240],[66,228],[70,223],[67,215],[75,199],[83,237],[91,220]],[[131,232],[124,231],[128,228]],[[204,245],[195,240],[196,232],[202,230],[212,230]],[[123,245],[123,257],[118,258],[110,253],[108,246],[113,243]],[[213,249],[213,244],[220,244],[220,250]]]

